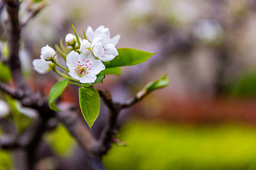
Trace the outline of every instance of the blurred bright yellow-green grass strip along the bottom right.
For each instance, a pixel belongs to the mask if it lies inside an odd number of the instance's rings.
[[[255,170],[256,127],[133,121],[103,158],[107,170]]]

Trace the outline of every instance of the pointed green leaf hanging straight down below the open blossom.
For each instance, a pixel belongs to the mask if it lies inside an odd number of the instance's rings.
[[[100,99],[98,91],[93,87],[79,88],[79,105],[84,119],[91,128],[98,118],[100,109]]]

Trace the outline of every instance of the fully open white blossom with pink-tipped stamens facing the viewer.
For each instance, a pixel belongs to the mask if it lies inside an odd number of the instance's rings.
[[[100,60],[96,60],[92,52],[81,53],[71,51],[67,55],[68,74],[80,83],[94,83],[97,74],[105,69]]]

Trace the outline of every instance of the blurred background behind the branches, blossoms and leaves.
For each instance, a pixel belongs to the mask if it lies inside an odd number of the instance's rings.
[[[22,2],[20,17],[26,1]],[[107,75],[103,85],[96,85],[110,90],[115,101],[134,96],[161,75],[168,74],[171,79],[168,87],[121,113],[118,138],[123,142],[104,156],[107,170],[256,169],[255,0],[46,3],[21,33],[22,68],[36,91],[48,94],[58,77],[54,73],[39,75],[32,69],[32,60],[39,58],[42,46],[54,47],[60,38],[72,33],[71,24],[80,35],[82,27],[105,25],[111,37],[121,35],[117,48],[157,52],[147,62],[123,67],[121,75]],[[5,17],[2,10],[1,24]],[[4,49],[3,24],[0,34]],[[7,81],[8,68],[0,67],[0,79]],[[68,87],[62,101],[78,103],[75,90]],[[95,136],[106,118],[102,103],[92,127]],[[67,169],[82,169],[84,157],[63,126],[44,137],[54,154],[37,163],[39,170],[65,169],[63,162]],[[12,155],[6,151],[0,151],[1,167],[13,167]]]

